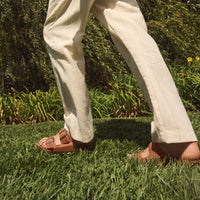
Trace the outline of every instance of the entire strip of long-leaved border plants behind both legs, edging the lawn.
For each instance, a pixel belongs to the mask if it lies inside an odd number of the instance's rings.
[[[188,58],[185,65],[170,67],[183,103],[188,111],[200,111],[200,60]],[[150,115],[149,107],[135,77],[124,74],[109,83],[110,89],[89,90],[94,118]],[[56,87],[49,92],[20,92],[0,95],[0,124],[35,123],[62,120],[63,107]]]

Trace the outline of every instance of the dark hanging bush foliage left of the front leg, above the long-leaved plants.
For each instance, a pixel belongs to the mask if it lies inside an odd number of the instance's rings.
[[[0,1],[1,93],[49,88],[53,74],[42,38],[46,8],[46,0]]]

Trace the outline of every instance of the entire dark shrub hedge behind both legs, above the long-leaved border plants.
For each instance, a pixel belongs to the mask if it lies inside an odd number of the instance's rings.
[[[198,0],[139,0],[149,33],[168,64],[200,54]],[[0,93],[47,90],[55,85],[42,37],[47,0],[0,1]],[[90,15],[83,40],[89,87],[110,89],[127,71],[109,33]]]

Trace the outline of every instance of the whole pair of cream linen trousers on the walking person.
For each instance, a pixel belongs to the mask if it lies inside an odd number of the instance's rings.
[[[197,141],[173,79],[157,44],[147,33],[135,0],[50,0],[44,39],[64,106],[65,128],[72,138],[89,142],[94,137],[81,47],[90,11],[109,30],[153,112],[152,141]]]

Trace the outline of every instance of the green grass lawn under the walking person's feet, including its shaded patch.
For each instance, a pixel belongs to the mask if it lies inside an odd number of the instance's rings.
[[[190,113],[200,139],[200,113]],[[96,149],[62,155],[35,144],[63,122],[0,126],[0,199],[200,199],[200,166],[129,160],[150,142],[150,117],[94,120]]]

